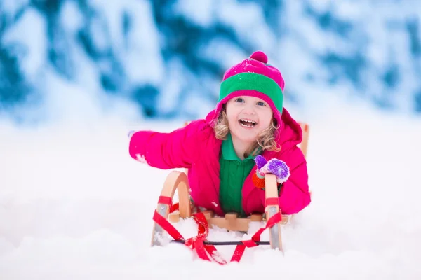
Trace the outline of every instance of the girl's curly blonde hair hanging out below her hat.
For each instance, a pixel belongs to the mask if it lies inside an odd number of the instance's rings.
[[[281,147],[279,144],[276,143],[275,140],[275,131],[279,128],[278,125],[276,125],[276,120],[272,118],[271,125],[267,127],[267,129],[260,132],[258,135],[257,141],[255,141],[255,144],[253,144],[248,151],[244,154],[244,158],[247,158],[248,155],[257,155],[258,148],[262,148],[262,151],[268,150],[268,151],[281,151]],[[215,120],[215,123],[213,125],[213,130],[215,131],[215,137],[219,140],[225,140],[227,139],[227,134],[229,132],[228,127],[228,116],[225,112],[225,104],[222,106],[222,110],[220,111],[220,115],[218,116],[218,119]]]

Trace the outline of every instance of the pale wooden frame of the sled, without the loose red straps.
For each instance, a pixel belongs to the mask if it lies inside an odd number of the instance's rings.
[[[302,127],[303,140],[300,144],[300,149],[304,155],[307,155],[307,144],[309,137],[309,127],[305,123],[300,123]],[[178,211],[171,213],[172,200],[175,194],[175,190],[178,192]],[[225,217],[217,217],[212,211],[203,211],[206,221],[210,228],[218,226],[218,228],[225,228],[230,231],[241,231],[248,232],[250,222],[269,221],[270,218],[281,214],[278,204],[278,188],[276,183],[276,176],[273,174],[265,175],[265,197],[266,207],[265,216],[263,214],[252,214],[247,218],[238,218],[236,213],[227,213]],[[166,198],[166,199],[165,199]],[[160,201],[156,207],[156,213],[165,218],[170,223],[177,223],[180,218],[192,217],[192,209],[194,205],[191,205],[189,199],[189,183],[187,180],[187,174],[185,172],[172,171],[168,174],[166,181],[163,183],[163,189],[161,191]],[[269,227],[269,242],[259,241],[259,245],[270,245],[273,249],[283,251],[282,239],[281,239],[281,225],[288,223],[292,216],[282,215],[278,219],[278,222],[273,226]],[[152,230],[152,246],[161,246],[161,240],[157,238],[161,236],[166,230],[161,225],[154,223]],[[213,245],[239,245],[239,242],[208,242]]]

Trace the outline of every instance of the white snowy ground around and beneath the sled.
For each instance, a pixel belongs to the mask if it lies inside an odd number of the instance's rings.
[[[420,279],[421,122],[333,116],[310,123],[313,201],[283,229],[285,255],[247,249],[226,266],[178,244],[149,246],[168,171],[131,160],[133,126],[0,123],[0,279]],[[135,129],[152,125],[182,122]],[[191,220],[178,228],[196,232]],[[209,239],[240,237],[211,231]],[[234,251],[219,249],[227,259]]]

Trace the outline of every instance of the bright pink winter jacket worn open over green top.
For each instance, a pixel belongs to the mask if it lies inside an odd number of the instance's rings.
[[[129,144],[129,153],[135,160],[146,162],[160,169],[188,168],[188,179],[194,204],[213,210],[218,216],[224,212],[219,203],[220,148],[210,121],[215,111],[205,120],[196,120],[186,127],[170,133],[135,132]],[[283,214],[294,214],[310,203],[307,162],[300,148],[302,130],[286,109],[282,112],[280,133],[276,141],[281,151],[264,151],[266,160],[278,158],[290,168],[290,177],[283,183],[279,195],[279,207]],[[265,212],[265,191],[252,182],[253,167],[243,184],[243,209],[247,215]]]

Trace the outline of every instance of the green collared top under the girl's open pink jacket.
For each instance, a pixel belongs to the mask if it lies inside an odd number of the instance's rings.
[[[220,204],[225,213],[233,211],[245,216],[241,190],[251,169],[255,165],[254,156],[241,160],[234,151],[231,134],[222,141],[220,155]]]

